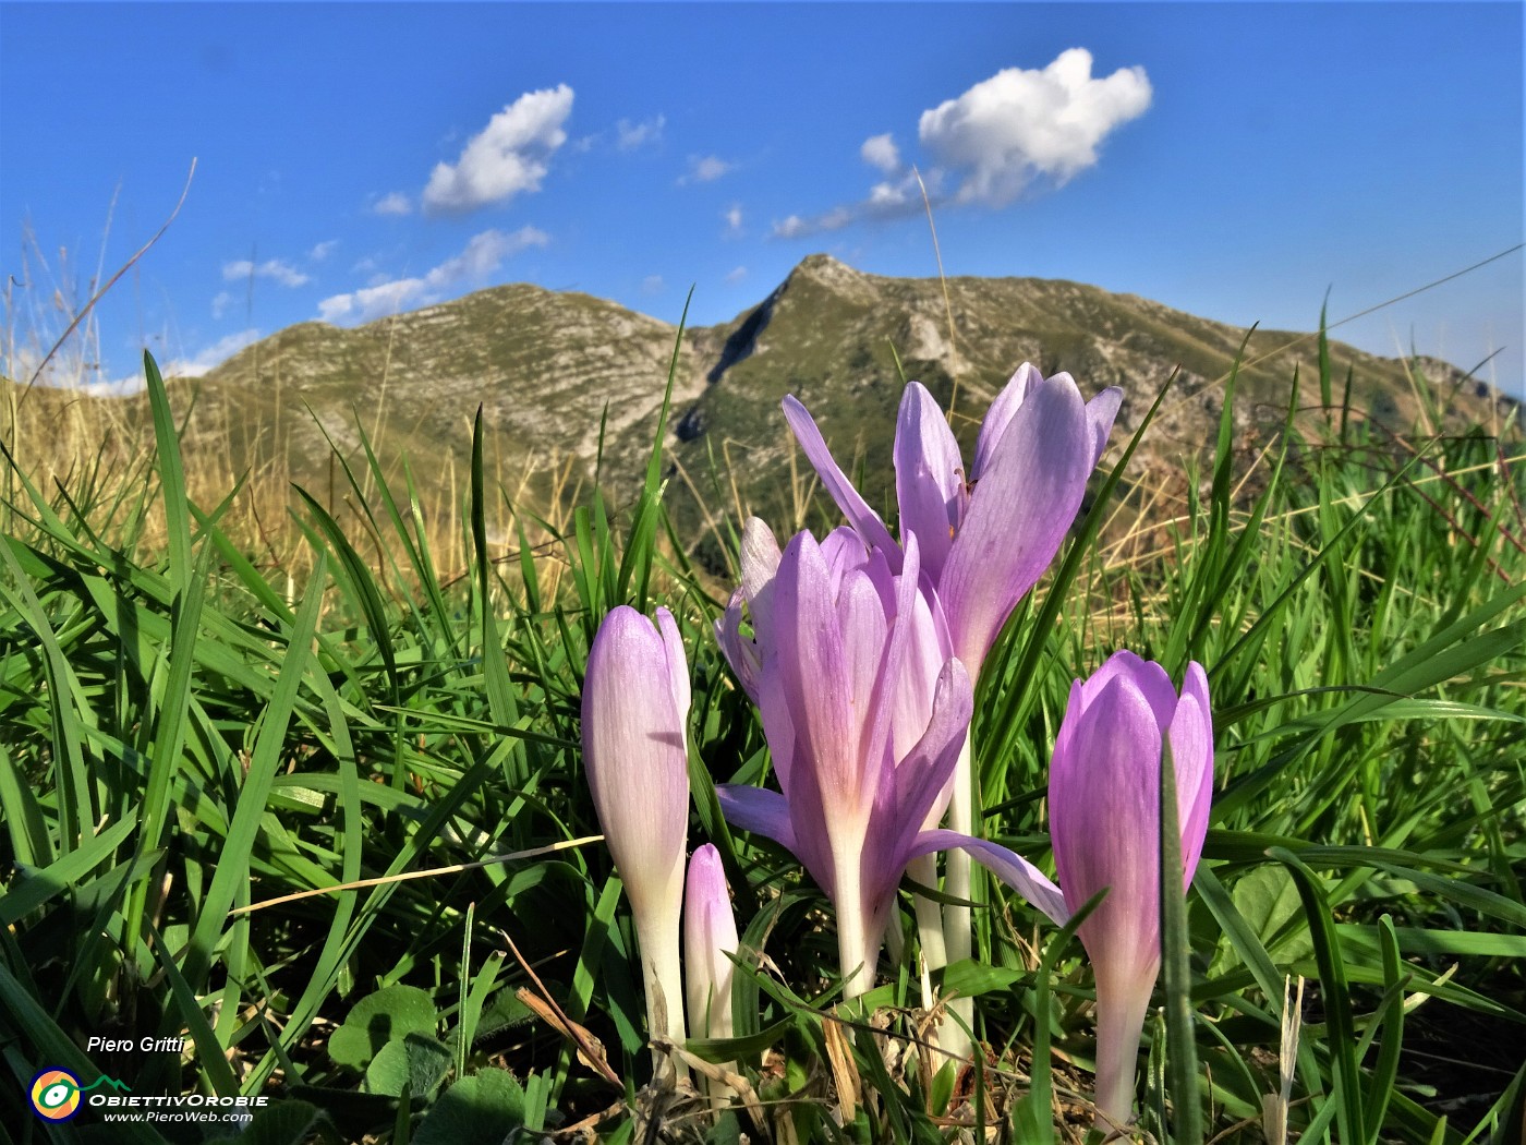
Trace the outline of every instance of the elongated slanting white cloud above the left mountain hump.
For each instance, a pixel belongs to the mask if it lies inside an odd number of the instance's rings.
[[[562,125],[572,113],[572,89],[526,92],[494,114],[452,163],[436,163],[424,188],[424,209],[467,212],[539,191],[546,162],[566,142]]]

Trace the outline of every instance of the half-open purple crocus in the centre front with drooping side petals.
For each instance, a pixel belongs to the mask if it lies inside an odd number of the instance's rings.
[[[899,572],[887,554],[839,530],[818,545],[797,534],[780,554],[761,522],[748,524],[743,585],[720,623],[722,647],[755,698],[783,792],[725,785],[734,826],[792,850],[838,914],[845,994],[873,985],[896,884],[917,855],[980,852],[1041,910],[1067,918],[1064,896],[1004,847],[925,831],[969,727],[969,676],[946,658],[920,727],[917,689],[903,675],[935,646],[932,606],[920,594],[917,542]],[[742,635],[742,602],[754,638]]]

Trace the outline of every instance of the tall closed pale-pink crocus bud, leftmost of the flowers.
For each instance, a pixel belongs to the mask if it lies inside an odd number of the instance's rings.
[[[673,614],[604,617],[583,679],[583,765],[641,943],[652,1035],[684,1040],[679,914],[688,837],[688,664]]]

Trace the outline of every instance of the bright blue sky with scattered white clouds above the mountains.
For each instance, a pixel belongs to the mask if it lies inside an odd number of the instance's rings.
[[[195,157],[104,380],[514,281],[710,324],[815,250],[934,275],[914,163],[951,275],[1308,330],[1521,241],[1521,11],[0,3],[0,272],[56,330]],[[1521,267],[1337,336],[1521,392]]]

